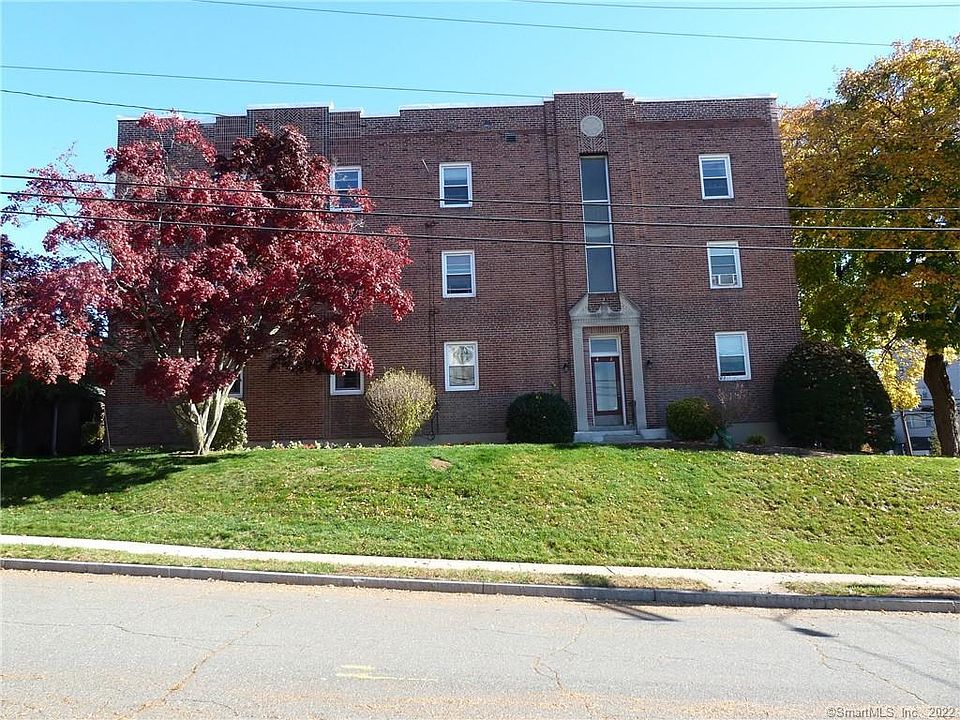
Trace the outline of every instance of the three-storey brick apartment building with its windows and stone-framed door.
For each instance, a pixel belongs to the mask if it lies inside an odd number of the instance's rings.
[[[750,248],[787,248],[790,233],[697,227],[789,224],[773,98],[571,93],[388,117],[271,108],[204,127],[226,152],[258,125],[286,124],[336,165],[336,189],[422,198],[377,209],[441,216],[399,220],[408,233],[482,238],[414,239],[405,285],[415,310],[360,328],[378,369],[433,381],[425,439],[502,438],[510,402],[551,388],[574,405],[583,439],[659,438],[670,401],[727,383],[749,399],[735,434],[776,436],[773,377],[800,339],[794,265],[789,252]],[[136,132],[121,120],[119,142]],[[372,439],[365,382],[263,361],[235,389],[251,442]],[[129,379],[107,408],[115,445],[177,438]]]

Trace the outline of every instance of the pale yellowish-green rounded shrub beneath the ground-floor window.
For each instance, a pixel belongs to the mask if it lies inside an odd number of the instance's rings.
[[[373,424],[395,447],[410,442],[437,404],[430,381],[402,368],[387,370],[371,382],[366,397]]]

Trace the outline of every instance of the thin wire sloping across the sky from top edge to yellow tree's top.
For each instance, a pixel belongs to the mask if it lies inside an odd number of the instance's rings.
[[[720,33],[689,33],[668,32],[664,30],[635,30],[632,28],[594,27],[588,25],[552,25],[549,23],[515,22],[510,20],[479,20],[475,18],[455,18],[437,15],[406,15],[401,13],[379,13],[367,10],[334,10],[332,8],[307,8],[296,5],[271,5],[269,3],[232,2],[232,0],[191,0],[204,5],[228,5],[247,8],[262,8],[270,10],[287,10],[292,12],[326,13],[330,15],[347,15],[351,17],[380,17],[396,20],[425,20],[429,22],[457,23],[461,25],[487,25],[493,27],[530,28],[538,30],[574,30],[578,32],[597,32],[618,35],[645,35],[659,37],[684,37],[700,40],[749,40],[761,42],[787,42],[815,45],[856,45],[860,47],[889,48],[889,43],[861,42],[857,40],[816,40],[810,38],[766,37],[758,35],[726,35]]]

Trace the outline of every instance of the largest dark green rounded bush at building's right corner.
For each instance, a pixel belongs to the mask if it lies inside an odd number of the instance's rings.
[[[876,371],[853,350],[802,342],[777,371],[780,429],[801,447],[876,452],[893,446],[893,409]]]

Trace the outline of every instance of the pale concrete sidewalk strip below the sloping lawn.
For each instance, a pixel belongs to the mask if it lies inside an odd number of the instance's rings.
[[[599,575],[695,580],[716,592],[782,593],[788,582],[856,583],[936,590],[960,594],[960,578],[900,575],[855,575],[846,573],[758,572],[754,570],[697,570],[691,568],[617,567],[606,565],[555,565],[546,563],[493,562],[487,560],[435,560],[429,558],[372,557],[326,553],[223,550],[219,548],[160,545],[119,540],[87,540],[32,535],[0,535],[0,545],[40,545],[88,550],[113,550],[141,555],[173,555],[198,560],[273,560],[315,562],[377,568],[424,568],[432,570],[489,570],[543,575]]]

